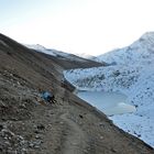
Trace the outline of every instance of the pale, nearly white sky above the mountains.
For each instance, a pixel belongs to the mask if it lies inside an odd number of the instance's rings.
[[[153,0],[0,0],[0,30],[21,43],[99,55],[153,31]]]

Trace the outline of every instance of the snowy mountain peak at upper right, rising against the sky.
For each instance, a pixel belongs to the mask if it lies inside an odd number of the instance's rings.
[[[130,46],[102,54],[97,57],[97,61],[133,65],[134,63],[148,64],[152,58],[154,58],[154,32],[147,32]]]

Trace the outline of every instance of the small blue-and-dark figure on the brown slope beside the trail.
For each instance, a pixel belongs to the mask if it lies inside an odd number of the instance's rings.
[[[48,91],[43,91],[42,92],[42,98],[47,101],[47,102],[51,102],[51,103],[55,103],[56,100],[55,100],[55,96]]]

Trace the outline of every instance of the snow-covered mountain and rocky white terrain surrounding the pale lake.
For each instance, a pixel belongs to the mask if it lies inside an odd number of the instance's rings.
[[[78,89],[127,95],[136,112],[109,118],[154,146],[154,32],[145,33],[130,46],[103,54],[97,61],[116,65],[65,72],[66,79]]]

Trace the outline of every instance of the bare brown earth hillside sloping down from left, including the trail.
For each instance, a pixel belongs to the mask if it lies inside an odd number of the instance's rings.
[[[0,34],[0,154],[153,154],[64,81],[64,69],[92,66],[100,64],[62,61]],[[45,102],[42,90],[57,102]]]

